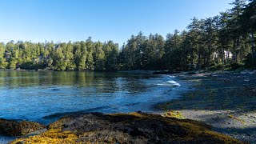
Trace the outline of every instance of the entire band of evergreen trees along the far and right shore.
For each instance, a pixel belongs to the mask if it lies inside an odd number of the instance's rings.
[[[50,70],[188,70],[216,65],[256,66],[256,1],[235,0],[231,10],[193,18],[187,30],[148,37],[138,33],[118,48],[109,42],[7,42],[0,68]]]

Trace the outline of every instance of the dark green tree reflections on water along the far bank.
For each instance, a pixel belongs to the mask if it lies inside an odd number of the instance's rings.
[[[114,93],[117,90],[133,93],[146,88],[142,81],[139,81],[143,77],[145,75],[121,73],[0,71],[0,88],[15,89],[30,86],[90,88],[96,86],[98,93]]]

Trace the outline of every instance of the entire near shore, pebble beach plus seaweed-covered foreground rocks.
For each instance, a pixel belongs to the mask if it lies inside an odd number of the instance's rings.
[[[157,114],[70,114],[48,126],[0,119],[0,134],[21,135],[10,143],[256,143],[255,72],[176,75],[193,86]]]

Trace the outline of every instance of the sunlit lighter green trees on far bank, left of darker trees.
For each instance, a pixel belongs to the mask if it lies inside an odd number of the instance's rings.
[[[8,42],[0,45],[2,69],[117,70],[114,42]]]

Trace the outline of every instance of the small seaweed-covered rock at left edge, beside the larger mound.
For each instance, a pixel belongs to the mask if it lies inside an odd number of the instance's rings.
[[[37,122],[16,122],[13,120],[6,120],[0,118],[0,134],[2,135],[19,136],[42,129],[46,129],[46,126],[43,126],[42,124]]]

